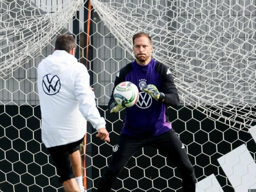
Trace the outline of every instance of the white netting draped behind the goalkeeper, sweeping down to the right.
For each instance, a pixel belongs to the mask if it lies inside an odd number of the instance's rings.
[[[255,1],[91,2],[130,54],[134,32],[151,35],[154,58],[171,68],[186,105],[233,128],[252,126]]]

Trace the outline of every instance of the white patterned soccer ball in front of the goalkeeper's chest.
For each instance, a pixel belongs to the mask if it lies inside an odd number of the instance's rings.
[[[138,87],[129,81],[119,83],[114,89],[114,99],[117,104],[124,107],[135,105],[139,100],[139,95]]]

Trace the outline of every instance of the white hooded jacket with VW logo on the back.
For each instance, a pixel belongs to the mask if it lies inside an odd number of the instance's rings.
[[[96,130],[105,127],[89,80],[87,68],[66,51],[56,50],[39,63],[37,87],[46,148],[82,139],[86,120]]]

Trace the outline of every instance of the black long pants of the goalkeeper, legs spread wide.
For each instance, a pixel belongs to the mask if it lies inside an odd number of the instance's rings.
[[[196,177],[188,154],[180,138],[173,129],[147,139],[120,135],[112,159],[101,177],[97,192],[109,192],[116,177],[132,155],[140,148],[152,146],[161,151],[180,171],[184,192],[196,191]]]

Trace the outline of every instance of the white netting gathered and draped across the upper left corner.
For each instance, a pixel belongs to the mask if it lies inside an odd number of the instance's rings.
[[[27,0],[0,3],[0,72],[6,75],[38,55],[84,1],[55,2],[51,7]]]

